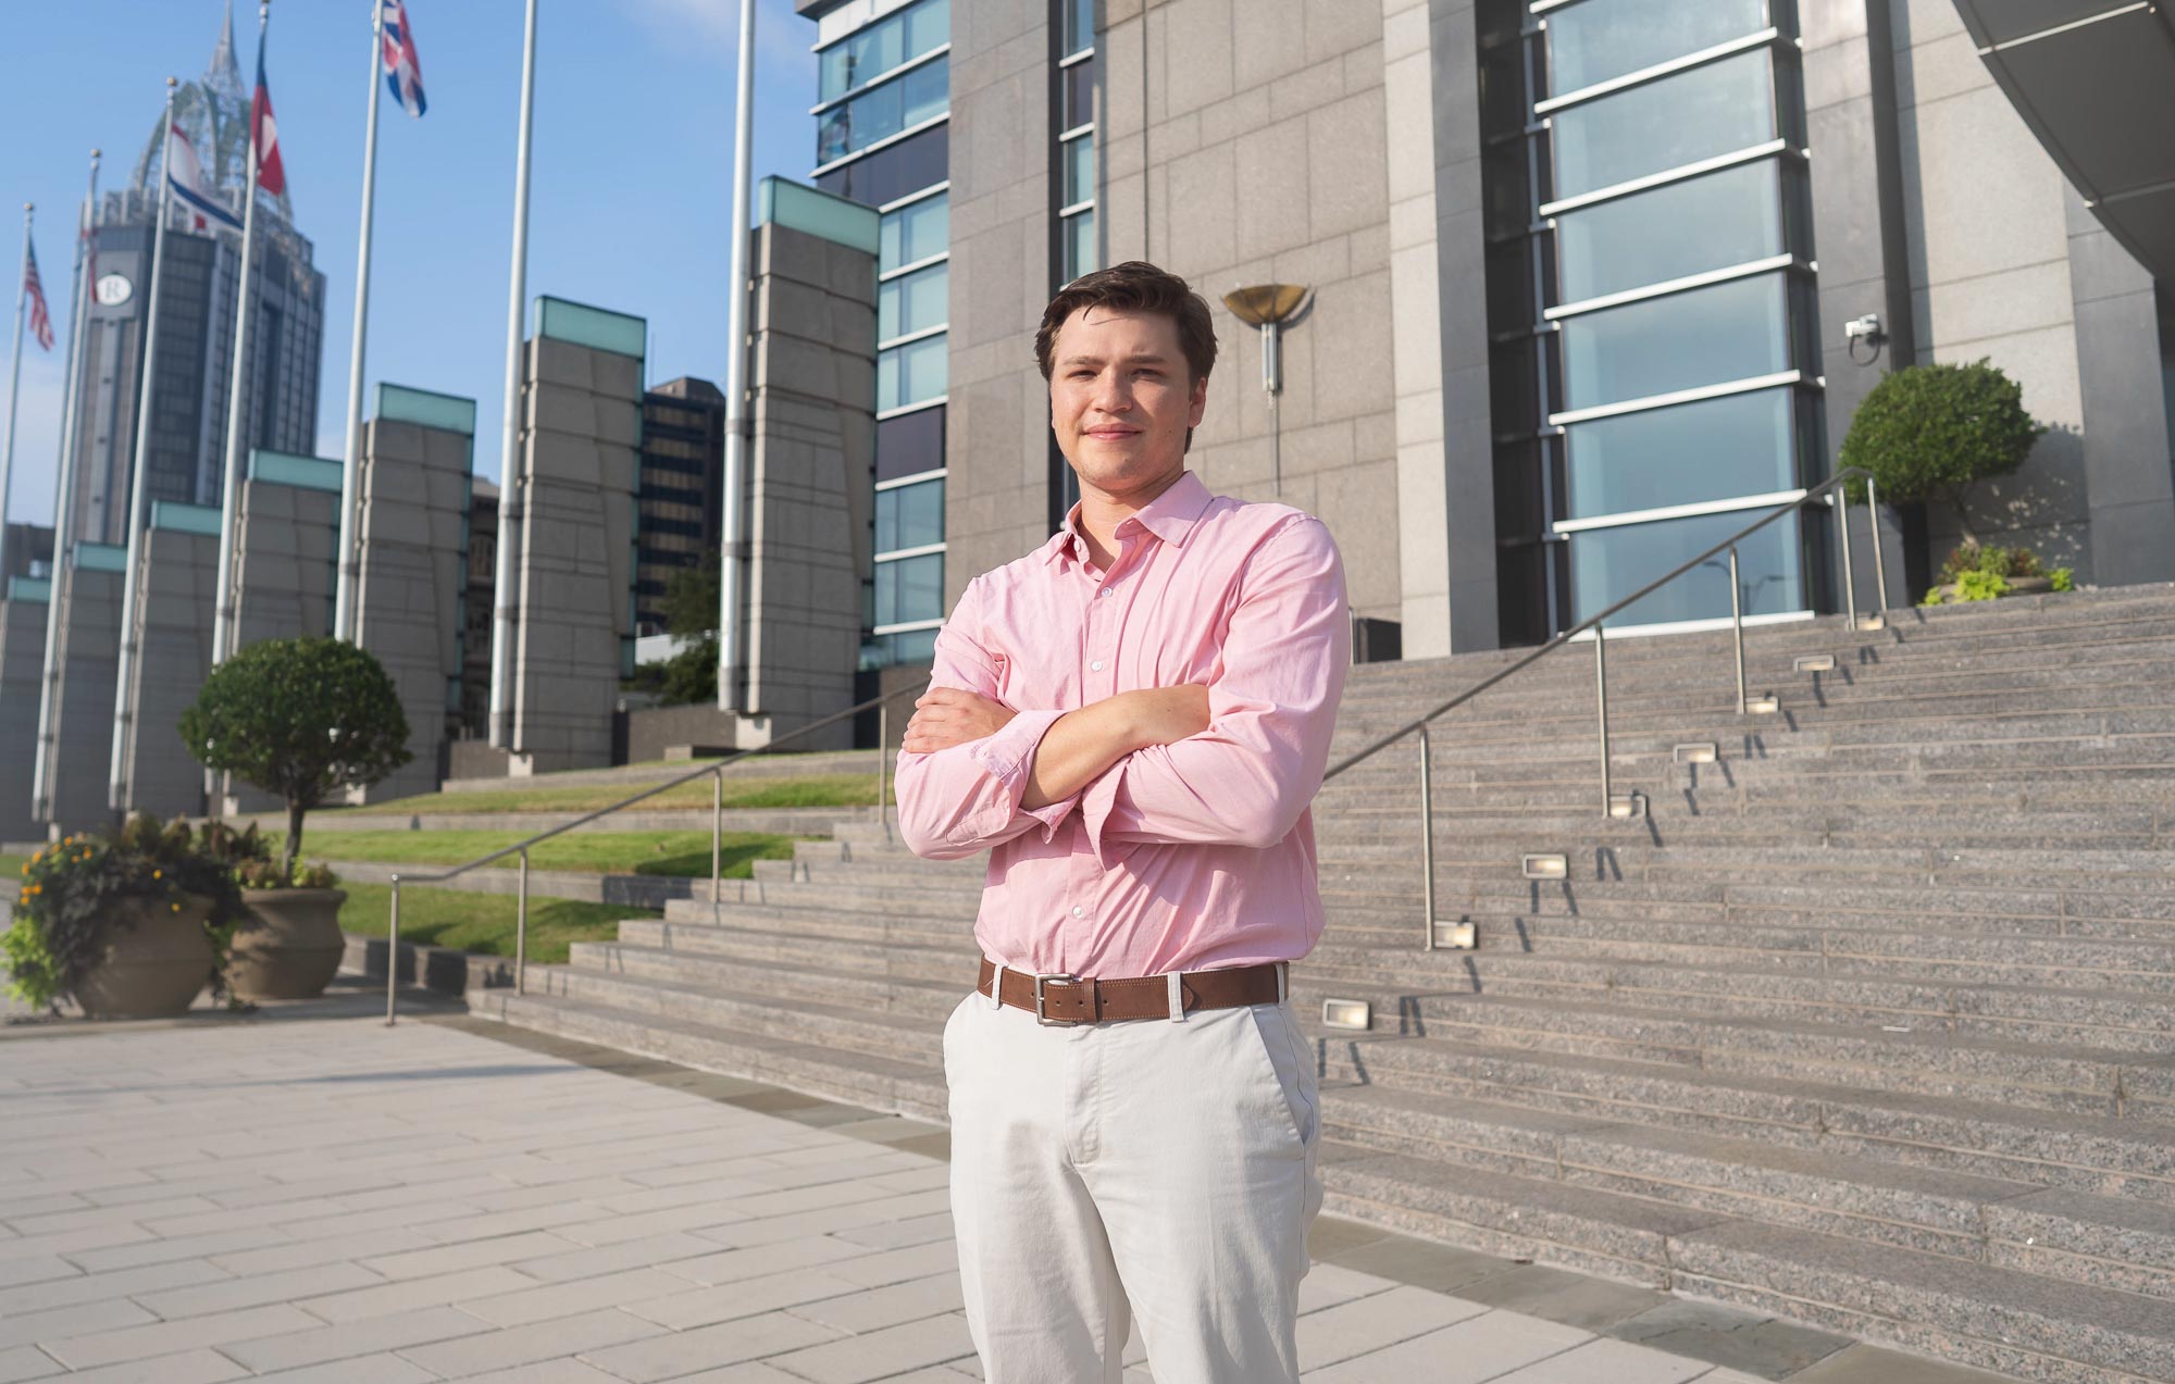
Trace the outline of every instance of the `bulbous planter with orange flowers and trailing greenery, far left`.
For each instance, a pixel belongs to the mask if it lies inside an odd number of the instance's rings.
[[[65,836],[22,868],[13,925],[0,936],[9,990],[89,1018],[172,1018],[220,988],[220,960],[241,894],[233,868],[187,823],[135,816],[120,831]]]

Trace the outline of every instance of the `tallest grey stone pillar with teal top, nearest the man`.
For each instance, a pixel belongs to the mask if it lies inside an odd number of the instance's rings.
[[[877,455],[877,259],[755,231],[748,692],[768,738],[853,705]],[[796,742],[853,744],[853,727]]]

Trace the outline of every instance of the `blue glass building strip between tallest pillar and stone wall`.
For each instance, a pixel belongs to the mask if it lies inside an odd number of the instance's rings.
[[[883,213],[861,668],[922,664],[944,622],[950,0],[842,4],[818,20],[816,57],[816,185]]]

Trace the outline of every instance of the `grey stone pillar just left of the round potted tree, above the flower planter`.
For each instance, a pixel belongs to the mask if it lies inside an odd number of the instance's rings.
[[[148,529],[137,583],[137,657],[130,664],[122,773],[130,812],[161,818],[204,810],[204,766],[176,731],[211,672],[220,540]]]

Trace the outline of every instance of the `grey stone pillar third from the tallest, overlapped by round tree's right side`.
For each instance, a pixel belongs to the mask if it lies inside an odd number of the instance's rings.
[[[461,677],[470,453],[472,440],[448,429],[387,418],[363,427],[355,642],[391,677],[413,757],[352,790],[350,803],[437,792],[459,714],[448,688]]]

